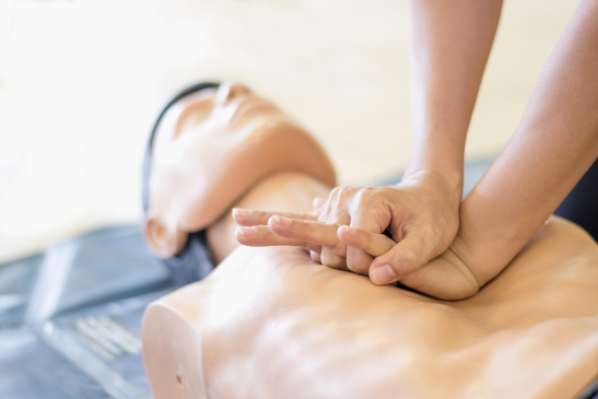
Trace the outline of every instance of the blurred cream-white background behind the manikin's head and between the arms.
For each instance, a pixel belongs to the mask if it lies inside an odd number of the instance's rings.
[[[506,1],[468,160],[506,143],[577,1]],[[408,161],[404,1],[0,0],[0,262],[141,221],[148,131],[175,91],[237,80],[329,151],[341,184]]]

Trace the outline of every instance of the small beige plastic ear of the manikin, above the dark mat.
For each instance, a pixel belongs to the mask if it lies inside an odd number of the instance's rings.
[[[157,216],[145,220],[145,237],[150,243],[152,253],[159,258],[169,258],[180,253],[188,234],[178,227],[168,227]]]

